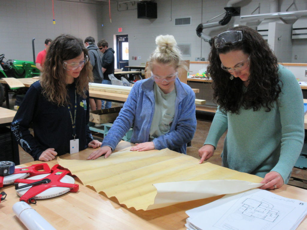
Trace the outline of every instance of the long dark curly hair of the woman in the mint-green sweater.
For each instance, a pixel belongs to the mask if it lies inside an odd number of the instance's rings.
[[[230,30],[242,31],[243,40],[225,44],[222,48],[212,45],[207,73],[213,80],[213,98],[225,112],[238,114],[240,108],[257,111],[262,107],[269,112],[281,92],[277,58],[257,31],[247,26],[232,27],[227,31]],[[246,91],[243,90],[241,79],[230,80],[231,74],[221,68],[219,54],[233,50],[241,50],[250,56],[250,76]]]

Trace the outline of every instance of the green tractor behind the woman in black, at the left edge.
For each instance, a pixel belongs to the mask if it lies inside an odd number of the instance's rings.
[[[2,69],[0,69],[0,78],[32,78],[41,74],[41,71],[36,68],[33,62],[7,60],[4,54],[0,55],[0,65],[2,67]],[[22,94],[20,91],[26,91],[25,88],[10,88],[8,85],[4,87],[3,84],[0,83],[0,106],[2,106],[3,102],[6,100],[5,90],[14,90],[16,94]]]

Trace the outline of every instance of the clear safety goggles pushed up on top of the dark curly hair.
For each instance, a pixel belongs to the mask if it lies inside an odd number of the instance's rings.
[[[214,38],[215,48],[223,48],[225,44],[232,44],[243,40],[242,31],[231,30],[220,33]]]

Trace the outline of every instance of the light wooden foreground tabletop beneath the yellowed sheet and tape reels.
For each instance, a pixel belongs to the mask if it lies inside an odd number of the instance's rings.
[[[129,150],[132,143],[121,141],[115,151]],[[87,156],[94,151],[87,148],[76,154],[65,154],[60,156],[63,159],[85,160]],[[144,152],[145,154],[146,152]],[[26,163],[23,166],[41,163],[34,161]],[[50,166],[57,164],[56,160],[47,162]],[[31,206],[42,215],[56,229],[133,229],[133,230],[184,230],[188,215],[186,210],[196,208],[207,204],[222,196],[211,197],[196,201],[188,201],[168,207],[153,209],[149,211],[138,210],[134,208],[125,208],[119,205],[115,197],[107,197],[96,193],[91,187],[82,185],[77,177],[75,183],[79,184],[77,193],[68,192],[59,197],[45,200],[37,200],[36,205]],[[4,186],[0,189],[7,193],[6,200],[0,204],[0,228],[1,229],[25,229],[24,225],[12,211],[14,203],[19,201],[13,185]],[[272,190],[273,193],[285,196],[291,199],[306,201],[307,190],[294,186],[284,185],[279,189]],[[298,230],[307,229],[306,217],[297,228]]]

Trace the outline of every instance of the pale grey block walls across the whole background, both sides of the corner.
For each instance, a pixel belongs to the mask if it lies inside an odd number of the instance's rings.
[[[228,0],[155,0],[157,2],[157,19],[138,19],[137,7],[132,3],[121,4],[111,2],[109,19],[108,5],[92,5],[84,3],[63,2],[54,0],[56,25],[52,24],[51,0],[0,0],[0,54],[5,53],[7,59],[33,60],[32,38],[35,37],[35,53],[44,48],[45,38],[54,39],[61,33],[68,33],[84,40],[93,36],[95,40],[106,39],[114,48],[114,35],[129,36],[129,65],[145,63],[155,48],[155,37],[159,34],[172,34],[178,43],[190,43],[191,57],[208,58],[208,43],[196,35],[196,27],[225,10]],[[279,11],[286,11],[293,0],[280,0]],[[236,4],[241,6],[241,15],[251,14],[260,3],[260,13],[268,13],[269,1],[243,0]],[[236,6],[235,5],[235,6]],[[296,0],[290,11],[307,10],[306,0]],[[258,10],[255,12],[258,13]],[[176,17],[192,17],[192,25],[175,26]],[[218,21],[220,16],[213,21]],[[293,23],[295,20],[286,20]],[[260,22],[248,23],[256,28]],[[104,25],[103,27],[101,25]],[[240,23],[239,16],[233,17],[226,26],[207,29],[210,36],[215,36],[229,26]],[[122,32],[118,32],[122,28]],[[134,39],[135,36],[135,39]],[[294,60],[294,55],[298,59]],[[141,56],[141,60],[131,60],[132,56]],[[292,40],[292,62],[307,63],[307,40]]]

